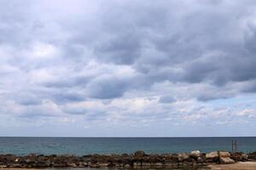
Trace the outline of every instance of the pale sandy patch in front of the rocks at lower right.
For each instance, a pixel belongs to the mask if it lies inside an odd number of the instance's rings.
[[[256,170],[256,161],[237,162],[228,165],[210,165],[212,170]]]

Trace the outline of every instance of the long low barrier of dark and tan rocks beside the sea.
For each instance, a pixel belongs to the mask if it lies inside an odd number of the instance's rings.
[[[44,168],[44,167],[125,167],[125,168],[183,168],[204,167],[212,164],[232,164],[237,161],[256,161],[256,152],[212,151],[201,153],[146,154],[138,150],[134,154],[122,155],[0,155],[0,168]]]

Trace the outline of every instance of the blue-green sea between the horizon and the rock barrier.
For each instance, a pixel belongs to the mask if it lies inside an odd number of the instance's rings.
[[[232,138],[31,138],[0,137],[0,154],[25,156],[29,153],[44,155],[134,153],[177,153],[201,150],[231,150],[232,139],[243,152],[256,151],[256,137]]]

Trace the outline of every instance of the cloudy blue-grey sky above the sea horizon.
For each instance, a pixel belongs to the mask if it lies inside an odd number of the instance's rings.
[[[256,136],[253,0],[0,1],[0,136]]]

